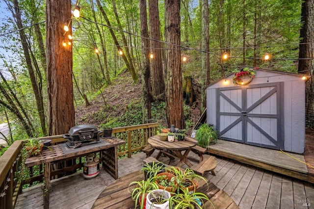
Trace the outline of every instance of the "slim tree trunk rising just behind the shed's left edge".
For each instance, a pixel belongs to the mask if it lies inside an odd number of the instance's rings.
[[[202,49],[209,49],[209,4],[202,1]],[[206,108],[206,89],[210,78],[209,53],[202,52],[201,112]]]

